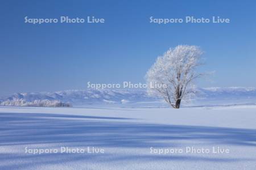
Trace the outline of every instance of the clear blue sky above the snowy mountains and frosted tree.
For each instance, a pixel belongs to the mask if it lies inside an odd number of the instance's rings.
[[[199,45],[216,71],[200,87],[256,87],[255,1],[1,1],[0,95],[85,89],[86,82],[144,82],[157,56]],[[27,24],[95,16],[104,24]],[[152,24],[155,18],[229,18],[226,24]]]

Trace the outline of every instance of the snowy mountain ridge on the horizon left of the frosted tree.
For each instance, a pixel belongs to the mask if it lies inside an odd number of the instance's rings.
[[[66,90],[57,92],[26,92],[2,97],[1,105],[19,105],[20,100],[34,101],[61,101],[73,105],[88,104],[124,104],[139,101],[154,101],[157,98],[147,95],[146,90]]]

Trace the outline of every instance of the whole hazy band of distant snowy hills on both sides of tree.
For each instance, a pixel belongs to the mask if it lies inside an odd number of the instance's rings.
[[[146,90],[68,90],[57,92],[18,93],[0,98],[0,105],[69,106],[75,107],[169,107],[163,99],[148,96]],[[198,88],[190,101],[181,101],[181,107],[203,105],[255,104],[256,89],[245,87]],[[121,105],[120,105],[121,104]]]

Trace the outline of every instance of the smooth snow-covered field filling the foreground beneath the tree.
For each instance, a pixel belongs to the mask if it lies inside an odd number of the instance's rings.
[[[0,107],[0,169],[256,169],[255,122],[255,105]]]

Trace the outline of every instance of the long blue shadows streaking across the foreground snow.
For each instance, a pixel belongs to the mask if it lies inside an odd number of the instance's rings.
[[[217,128],[207,126],[183,126],[142,124],[129,122],[130,118],[76,116],[67,114],[42,114],[42,113],[1,113],[0,114],[0,147],[18,145],[42,145],[70,147],[179,147],[179,141],[205,143],[207,145],[236,145],[256,146],[256,130]],[[118,121],[122,120],[122,121]],[[24,146],[23,146],[24,147]],[[42,147],[40,147],[42,148]],[[149,151],[148,151],[149,152]],[[227,158],[201,158],[200,156],[118,156],[104,155],[77,155],[53,154],[51,159],[46,159],[49,154],[21,155],[0,154],[0,159],[23,160],[40,158],[38,163],[54,164],[71,162],[80,159],[103,158],[108,162],[114,160],[203,160],[212,162],[235,162],[237,159]],[[42,159],[41,159],[42,158]],[[29,166],[28,163],[15,165],[0,165],[0,168],[17,168]]]

